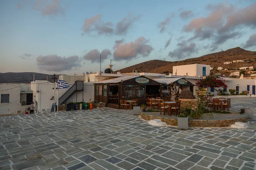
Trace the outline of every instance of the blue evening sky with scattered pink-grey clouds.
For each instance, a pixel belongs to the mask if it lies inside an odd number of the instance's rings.
[[[256,51],[256,0],[0,0],[0,72],[82,74]]]

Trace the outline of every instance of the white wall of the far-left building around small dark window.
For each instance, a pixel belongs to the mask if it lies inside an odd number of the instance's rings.
[[[29,90],[30,84],[12,84],[12,83],[2,83],[0,84],[0,96],[1,94],[9,94],[9,103],[0,102],[0,114],[10,114],[17,113],[17,111],[24,112],[24,107],[20,103],[20,91]],[[9,90],[7,90],[9,89]]]

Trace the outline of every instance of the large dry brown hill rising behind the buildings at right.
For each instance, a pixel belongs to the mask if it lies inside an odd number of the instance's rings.
[[[244,62],[223,64],[224,62],[233,62],[233,60],[242,59]],[[252,60],[248,63],[247,60]],[[240,47],[230,48],[226,51],[207,54],[198,58],[190,58],[181,61],[162,61],[150,60],[136,65],[132,65],[120,70],[121,73],[130,73],[133,70],[137,72],[150,72],[150,73],[172,73],[172,67],[175,65],[188,65],[188,64],[207,64],[212,67],[223,67],[223,69],[234,69],[245,66],[253,66],[256,68],[256,51],[247,51]],[[116,71],[115,71],[116,72]]]

